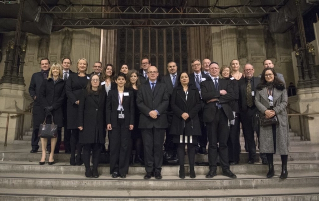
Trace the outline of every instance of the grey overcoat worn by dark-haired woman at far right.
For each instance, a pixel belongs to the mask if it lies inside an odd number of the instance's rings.
[[[276,154],[288,155],[289,153],[289,126],[286,106],[288,103],[287,91],[274,88],[274,110],[279,124],[276,125]],[[255,104],[261,113],[270,108],[267,88],[256,91]],[[275,153],[272,126],[260,127],[260,152]]]

